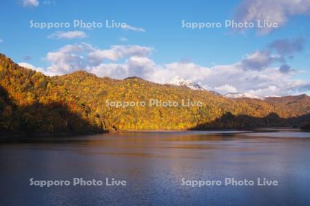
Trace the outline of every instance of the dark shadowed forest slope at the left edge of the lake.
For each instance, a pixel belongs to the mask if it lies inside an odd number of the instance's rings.
[[[34,102],[24,106],[14,104],[8,93],[0,87],[0,132],[32,134],[83,134],[102,133],[103,127],[97,127],[83,119],[79,113],[70,111],[68,106],[59,102],[41,104]]]

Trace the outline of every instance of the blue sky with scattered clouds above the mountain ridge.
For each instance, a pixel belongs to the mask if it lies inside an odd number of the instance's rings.
[[[3,0],[1,8],[0,52],[49,76],[85,70],[158,83],[180,76],[223,94],[310,94],[310,0]],[[254,27],[225,27],[227,20]],[[278,27],[258,28],[258,20]]]

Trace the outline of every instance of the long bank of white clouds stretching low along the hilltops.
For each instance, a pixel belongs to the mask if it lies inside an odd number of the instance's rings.
[[[271,67],[270,57],[257,51],[245,59],[257,58],[254,62],[258,62],[260,69],[249,69],[249,64],[245,64],[244,60],[213,67],[203,67],[192,62],[160,65],[149,57],[152,51],[151,47],[139,45],[115,45],[110,49],[95,48],[87,43],[65,45],[47,54],[45,60],[50,62],[50,67],[43,69],[43,73],[59,75],[85,70],[101,77],[123,79],[139,76],[157,83],[167,83],[175,76],[180,76],[223,94],[247,92],[257,96],[288,95],[310,89],[309,81],[293,78],[296,71],[282,72],[280,67]]]

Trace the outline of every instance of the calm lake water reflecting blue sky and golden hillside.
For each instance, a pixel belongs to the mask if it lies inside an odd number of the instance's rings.
[[[105,178],[126,186],[30,186]],[[258,186],[258,178],[278,186]],[[254,181],[225,185],[225,178]],[[222,185],[191,187],[183,180]],[[139,132],[0,144],[0,205],[310,205],[310,133]],[[187,181],[188,182],[188,181]]]

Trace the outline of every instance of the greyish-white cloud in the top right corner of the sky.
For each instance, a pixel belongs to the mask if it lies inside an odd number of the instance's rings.
[[[310,0],[243,0],[236,10],[237,21],[254,22],[269,21],[282,26],[289,18],[298,14],[307,14],[310,10]],[[260,29],[261,34],[271,32],[273,28]]]

